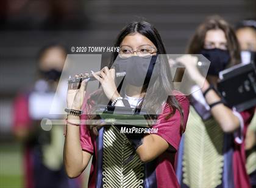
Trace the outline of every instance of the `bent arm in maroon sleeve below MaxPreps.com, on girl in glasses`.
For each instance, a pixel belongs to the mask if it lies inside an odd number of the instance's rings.
[[[189,101],[185,96],[178,98],[180,105],[183,109],[183,123],[187,123],[189,113]],[[166,105],[163,113],[159,116],[157,124],[154,129],[158,129],[157,133],[144,136],[143,144],[138,147],[136,152],[140,156],[141,161],[147,163],[157,158],[163,152],[171,147],[177,150],[180,143],[180,126],[181,116],[180,112],[176,110],[176,113],[169,119],[166,119],[166,115],[170,112],[169,107]]]

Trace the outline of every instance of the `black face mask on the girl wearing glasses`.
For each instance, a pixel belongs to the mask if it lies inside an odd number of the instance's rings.
[[[126,82],[132,86],[145,86],[149,81],[157,79],[160,63],[157,56],[131,56],[130,58],[120,58],[115,60],[116,72],[126,72]],[[154,72],[153,72],[154,70]]]

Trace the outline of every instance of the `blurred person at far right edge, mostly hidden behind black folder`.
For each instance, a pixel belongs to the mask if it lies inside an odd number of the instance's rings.
[[[244,64],[256,61],[256,21],[245,19],[236,27],[236,36],[241,47],[241,60]],[[256,65],[256,64],[255,64]],[[245,140],[246,170],[252,186],[256,187],[256,115],[248,127]]]

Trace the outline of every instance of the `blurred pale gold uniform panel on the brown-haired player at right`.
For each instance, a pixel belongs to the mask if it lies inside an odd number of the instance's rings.
[[[190,107],[183,150],[183,183],[189,187],[216,187],[221,184],[224,133],[215,119],[202,121]]]

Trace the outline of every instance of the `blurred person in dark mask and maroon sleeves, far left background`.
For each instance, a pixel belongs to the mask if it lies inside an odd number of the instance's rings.
[[[13,133],[24,143],[24,187],[27,188],[79,187],[79,180],[69,180],[63,168],[63,127],[41,124],[54,108],[52,101],[58,84],[62,84],[59,79],[65,59],[66,50],[62,45],[51,44],[41,49],[37,81],[30,90],[20,93],[14,102]],[[60,93],[62,95],[66,90]],[[62,98],[65,96],[58,97]]]

